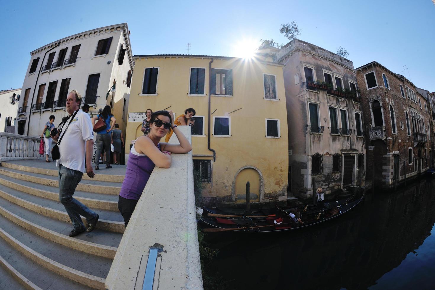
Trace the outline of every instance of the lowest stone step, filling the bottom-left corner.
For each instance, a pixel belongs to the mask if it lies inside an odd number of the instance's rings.
[[[92,289],[41,267],[0,238],[0,289]],[[7,270],[5,270],[7,269]]]

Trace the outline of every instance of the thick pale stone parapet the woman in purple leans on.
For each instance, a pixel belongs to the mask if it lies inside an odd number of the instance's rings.
[[[178,128],[191,141],[190,127]],[[170,143],[178,143],[175,134]],[[154,168],[124,232],[105,286],[109,290],[203,289],[192,152],[172,154],[170,168]]]

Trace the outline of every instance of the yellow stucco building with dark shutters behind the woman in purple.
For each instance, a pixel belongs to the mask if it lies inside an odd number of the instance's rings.
[[[134,60],[127,144],[143,134],[148,108],[168,108],[178,116],[193,107],[194,168],[201,172],[204,203],[245,202],[247,181],[251,202],[287,199],[282,64],[174,54],[136,55]]]

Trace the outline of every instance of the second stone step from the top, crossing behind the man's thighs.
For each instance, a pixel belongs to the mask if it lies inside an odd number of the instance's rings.
[[[7,167],[0,168],[0,174],[19,180],[47,185],[50,187],[59,187],[59,177],[55,177],[52,175],[20,171]],[[82,181],[77,184],[76,189],[79,191],[87,191],[92,193],[119,195],[119,192],[121,190],[121,183],[83,180],[82,178]]]

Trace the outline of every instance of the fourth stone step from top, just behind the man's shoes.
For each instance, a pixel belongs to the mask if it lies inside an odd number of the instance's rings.
[[[0,197],[10,201],[11,203],[17,204],[27,210],[33,211],[46,217],[53,218],[55,220],[66,222],[70,225],[70,230],[72,230],[70,217],[68,216],[64,205],[59,201],[49,200],[43,197],[37,197],[28,193],[23,193],[19,190],[6,187],[1,184]],[[107,230],[116,233],[124,233],[124,219],[119,211],[94,211],[100,216],[96,227],[97,229]],[[85,218],[82,218],[82,220],[84,223],[86,223]]]

